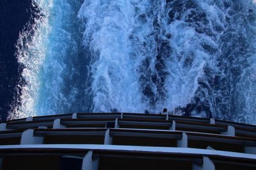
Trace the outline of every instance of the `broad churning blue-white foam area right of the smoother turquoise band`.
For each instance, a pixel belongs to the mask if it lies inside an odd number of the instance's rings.
[[[79,17],[94,57],[95,111],[183,107],[196,117],[255,122],[252,1],[85,1]],[[125,65],[109,73],[112,63]],[[131,81],[136,88],[124,92]]]

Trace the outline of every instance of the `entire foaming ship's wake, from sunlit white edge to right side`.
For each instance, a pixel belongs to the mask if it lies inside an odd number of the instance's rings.
[[[159,113],[256,124],[252,0],[34,0],[9,118]],[[28,26],[27,26],[28,27]]]

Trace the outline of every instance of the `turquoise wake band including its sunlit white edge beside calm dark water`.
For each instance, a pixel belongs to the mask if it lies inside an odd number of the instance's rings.
[[[25,83],[17,87],[21,89],[20,99],[9,118],[86,110],[86,62],[79,49],[80,24],[76,17],[79,3],[33,1],[40,17],[33,18],[33,29],[20,33],[17,59]]]

